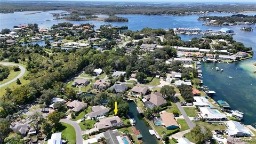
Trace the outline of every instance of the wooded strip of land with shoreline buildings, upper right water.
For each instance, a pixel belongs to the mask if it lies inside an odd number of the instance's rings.
[[[233,26],[233,25],[252,25],[256,23],[256,15],[234,14],[226,17],[205,16],[198,20],[205,21],[207,26]]]

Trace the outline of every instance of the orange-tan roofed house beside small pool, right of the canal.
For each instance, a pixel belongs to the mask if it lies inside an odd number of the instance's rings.
[[[160,114],[160,117],[162,118],[162,124],[165,126],[165,129],[173,130],[179,128],[179,124],[176,122],[173,114],[164,111]]]

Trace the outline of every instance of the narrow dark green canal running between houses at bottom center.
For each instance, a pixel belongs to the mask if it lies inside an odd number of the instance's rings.
[[[136,120],[136,124],[135,124],[136,129],[139,130],[140,133],[142,134],[143,143],[157,143],[156,137],[150,135],[150,133],[148,131],[148,130],[150,130],[150,126],[146,124],[146,122],[143,120],[143,118],[138,113],[137,105],[135,104],[135,102],[129,101],[129,107],[130,107],[129,113],[131,113]]]

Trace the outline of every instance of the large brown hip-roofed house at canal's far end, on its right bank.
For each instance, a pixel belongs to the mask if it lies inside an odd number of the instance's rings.
[[[167,103],[167,101],[163,98],[160,92],[154,92],[145,95],[142,101],[144,102],[145,106],[150,109],[156,106],[161,107],[162,105]]]

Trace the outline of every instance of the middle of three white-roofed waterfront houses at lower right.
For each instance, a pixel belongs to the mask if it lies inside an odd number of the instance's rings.
[[[225,114],[220,113],[217,109],[212,110],[210,107],[199,107],[201,116],[208,119],[222,119],[227,118]]]

